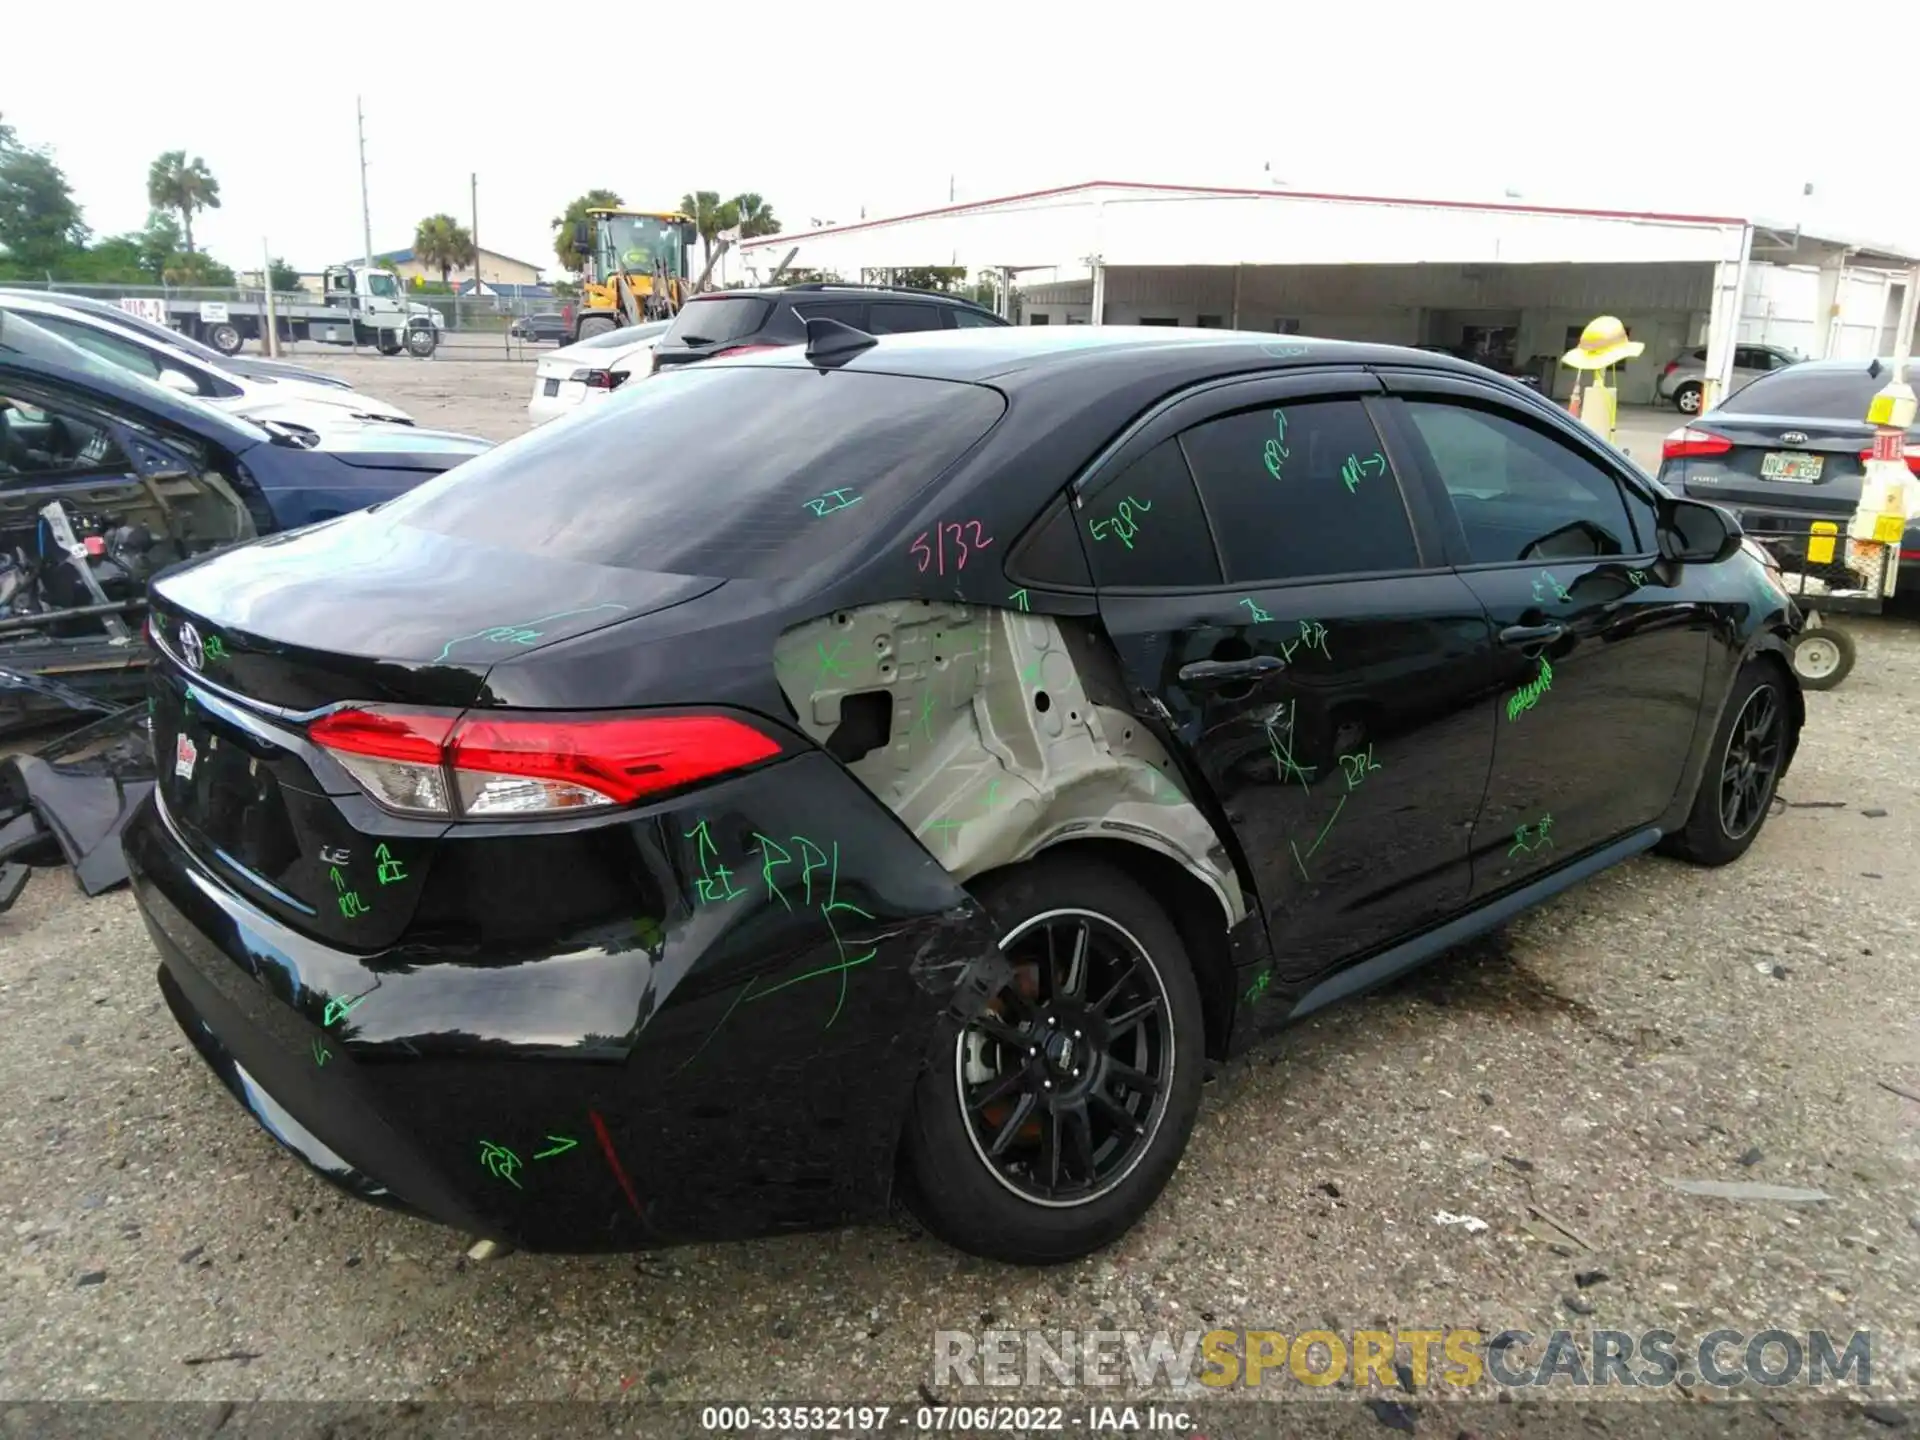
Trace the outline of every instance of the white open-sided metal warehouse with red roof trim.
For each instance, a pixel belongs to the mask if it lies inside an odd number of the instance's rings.
[[[1096,180],[749,240],[766,278],[791,265],[847,280],[964,265],[1020,290],[1023,324],[1196,324],[1436,346],[1538,371],[1619,315],[1642,359],[1620,397],[1649,401],[1676,351],[1740,342],[1805,355],[1893,349],[1914,255],[1720,215],[1225,190]]]

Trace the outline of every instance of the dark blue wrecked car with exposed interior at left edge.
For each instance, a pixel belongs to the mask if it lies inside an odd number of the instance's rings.
[[[488,447],[261,428],[0,313],[0,728],[44,718],[46,689],[136,697],[146,586],[169,564],[376,505]]]

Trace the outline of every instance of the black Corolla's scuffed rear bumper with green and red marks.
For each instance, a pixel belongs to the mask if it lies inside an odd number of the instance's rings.
[[[812,824],[799,814],[831,816],[837,918],[828,872],[781,899],[732,852],[730,835]],[[180,1027],[263,1129],[351,1194],[563,1252],[883,1213],[941,1012],[998,954],[985,914],[826,755],[624,824],[718,835],[732,893],[703,881],[659,920],[538,947],[355,954],[228,889],[156,803],[123,847]],[[668,843],[660,870],[685,876],[691,856]]]

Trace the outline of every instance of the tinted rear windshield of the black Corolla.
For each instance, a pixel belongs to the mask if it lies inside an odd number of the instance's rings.
[[[1002,411],[998,392],[950,380],[689,365],[467,461],[384,513],[588,564],[799,576],[858,559]]]

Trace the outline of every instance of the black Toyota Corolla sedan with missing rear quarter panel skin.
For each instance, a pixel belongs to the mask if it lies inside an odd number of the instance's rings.
[[[1764,824],[1778,578],[1521,386],[808,328],[156,582],[159,985],[338,1185],[1079,1256],[1210,1062]]]

